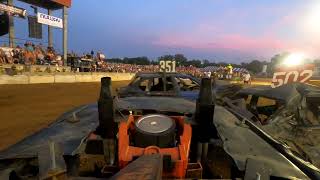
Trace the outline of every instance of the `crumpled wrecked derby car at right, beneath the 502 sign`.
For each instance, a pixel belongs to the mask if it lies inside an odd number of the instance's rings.
[[[297,156],[320,168],[318,87],[302,83],[277,88],[251,87],[238,91],[234,99],[247,102],[239,107],[247,112],[248,119],[289,146]]]

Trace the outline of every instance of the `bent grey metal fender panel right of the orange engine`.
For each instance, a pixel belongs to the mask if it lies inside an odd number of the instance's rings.
[[[246,170],[248,159],[253,159],[262,162],[256,166],[267,168],[269,175],[309,179],[225,108],[215,107],[214,122],[223,141],[224,150],[234,159],[240,170]]]

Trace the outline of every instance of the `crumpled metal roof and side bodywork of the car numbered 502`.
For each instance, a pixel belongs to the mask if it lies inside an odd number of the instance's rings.
[[[319,117],[316,117],[317,114],[313,117],[312,112],[306,110],[302,111],[305,114],[300,112],[302,118],[295,114],[302,106],[310,109],[304,104],[304,96],[311,97],[316,102],[319,93],[319,87],[302,83],[287,84],[274,89],[264,86],[239,91],[240,95],[256,95],[284,102],[284,108],[273,114],[269,123],[261,125],[261,129],[290,146],[292,151],[317,167],[320,167],[320,131],[317,130]]]

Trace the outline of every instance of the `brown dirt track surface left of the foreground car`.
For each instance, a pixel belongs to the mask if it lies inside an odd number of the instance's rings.
[[[128,81],[113,82],[115,89]],[[0,85],[0,150],[46,127],[63,112],[97,101],[100,83]]]

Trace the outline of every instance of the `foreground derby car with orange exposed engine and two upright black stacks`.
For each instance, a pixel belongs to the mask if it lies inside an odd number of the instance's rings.
[[[260,128],[243,101],[112,97],[82,106],[0,152],[1,179],[320,179],[319,169]],[[231,96],[230,96],[231,97]]]

